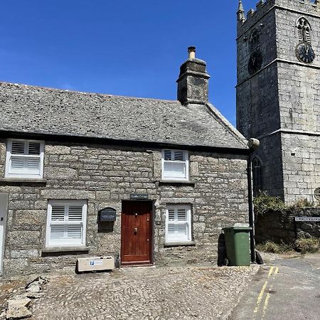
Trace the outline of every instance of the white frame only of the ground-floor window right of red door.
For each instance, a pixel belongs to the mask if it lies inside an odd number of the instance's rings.
[[[178,225],[178,224],[186,224],[187,226],[187,235],[184,237],[178,237],[178,236],[172,236],[169,235],[168,232],[168,228],[169,228],[169,210],[177,210],[177,209],[185,209],[186,210],[186,222],[184,221],[178,221],[175,220],[174,224]],[[172,221],[170,222],[172,224]],[[192,242],[192,237],[191,237],[191,229],[192,229],[192,225],[191,225],[191,205],[176,205],[176,204],[170,204],[166,206],[166,232],[165,232],[165,241],[166,243],[170,244],[170,243],[188,243],[188,242]]]

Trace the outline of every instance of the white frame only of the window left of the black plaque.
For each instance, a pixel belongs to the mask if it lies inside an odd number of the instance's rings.
[[[53,206],[82,206],[82,222],[78,221],[51,221]],[[65,242],[50,240],[51,225],[82,225],[80,241],[65,239]],[[87,201],[85,200],[50,200],[48,201],[48,215],[46,228],[46,247],[85,247],[87,230]],[[63,238],[62,238],[63,239]]]

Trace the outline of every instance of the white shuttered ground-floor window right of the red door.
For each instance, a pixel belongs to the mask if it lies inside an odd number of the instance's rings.
[[[191,206],[166,207],[166,242],[191,242]]]

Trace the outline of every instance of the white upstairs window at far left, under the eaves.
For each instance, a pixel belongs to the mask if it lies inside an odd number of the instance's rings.
[[[44,142],[9,139],[6,148],[6,178],[43,178]]]

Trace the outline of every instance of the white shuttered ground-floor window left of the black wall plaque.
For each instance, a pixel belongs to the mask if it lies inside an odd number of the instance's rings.
[[[87,201],[49,201],[46,247],[85,246],[86,225]]]

